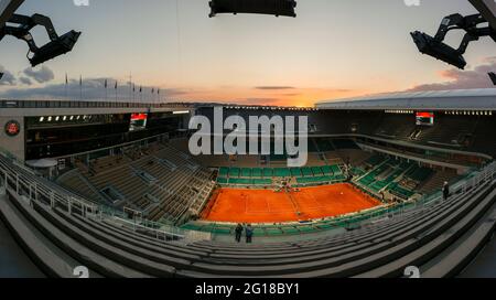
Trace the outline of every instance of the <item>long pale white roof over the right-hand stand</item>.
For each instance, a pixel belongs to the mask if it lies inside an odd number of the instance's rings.
[[[496,88],[378,94],[324,100],[317,103],[316,107],[348,110],[489,110],[496,109]]]

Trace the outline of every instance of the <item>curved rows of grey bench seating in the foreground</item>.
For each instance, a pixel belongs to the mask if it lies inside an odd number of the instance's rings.
[[[22,182],[33,179],[29,173],[22,176]],[[475,257],[496,224],[496,182],[486,181],[449,201],[412,207],[396,218],[338,235],[263,245],[174,242],[172,236],[164,242],[112,217],[51,207],[43,197],[30,205],[12,190],[11,179],[0,215],[36,265],[54,277],[71,277],[73,266],[82,265],[93,277],[402,277],[405,266],[412,265],[424,277],[445,277],[459,274]]]

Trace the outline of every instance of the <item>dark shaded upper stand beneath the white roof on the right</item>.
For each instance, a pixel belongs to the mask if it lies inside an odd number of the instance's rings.
[[[209,108],[201,109],[200,114],[213,118],[213,114],[208,110]],[[239,115],[245,119],[252,113],[242,108],[225,110],[226,115]],[[282,117],[301,115],[287,110],[278,110],[278,114]],[[414,114],[387,114],[384,110],[322,109],[306,115],[309,124],[316,128],[310,135],[311,152],[316,150],[331,152],[333,151],[331,146],[336,150],[357,149],[358,146],[353,140],[357,139],[356,136],[360,136],[390,140],[395,143],[401,141],[406,144],[465,150],[496,157],[496,139],[490,131],[494,128],[495,116],[446,115],[439,111],[435,114],[434,125],[428,127],[417,126]],[[316,138],[312,135],[333,138]],[[325,140],[330,140],[331,144]]]

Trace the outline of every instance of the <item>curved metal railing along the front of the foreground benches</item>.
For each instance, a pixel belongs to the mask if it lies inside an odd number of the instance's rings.
[[[0,149],[1,150],[1,149]],[[61,207],[68,213],[76,213],[84,217],[110,219],[125,225],[133,231],[145,231],[151,237],[159,240],[173,239],[211,239],[208,233],[184,231],[175,226],[151,222],[142,217],[128,218],[123,212],[109,206],[96,205],[87,200],[80,199],[65,191],[63,188],[34,174],[32,170],[25,168],[12,158],[8,158],[0,151],[0,184],[4,184],[18,194],[24,193],[30,201],[48,203],[51,207]],[[486,165],[484,169],[474,172],[459,182],[451,185],[452,193],[466,193],[470,190],[493,181],[496,178],[496,162]],[[401,217],[403,214],[414,210],[425,210],[438,203],[442,199],[442,193],[438,192],[418,201],[405,202],[380,210],[358,214],[360,217],[367,216],[368,223],[374,223],[385,216]],[[353,216],[349,216],[353,219]]]

